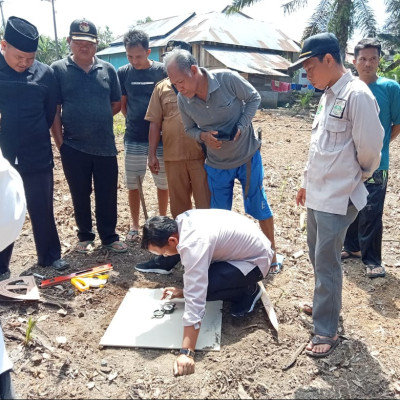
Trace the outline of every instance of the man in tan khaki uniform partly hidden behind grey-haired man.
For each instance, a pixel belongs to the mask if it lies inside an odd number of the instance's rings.
[[[190,51],[190,44],[172,43],[172,47]],[[150,122],[149,158],[150,171],[157,174],[160,165],[157,146],[163,142],[163,158],[167,174],[170,209],[173,218],[192,209],[192,195],[196,208],[210,208],[210,190],[204,169],[204,152],[200,144],[185,133],[178,109],[177,92],[169,78],[160,81],[154,88],[145,119]],[[158,256],[146,263],[138,264],[141,272],[169,273],[179,261],[179,255]]]

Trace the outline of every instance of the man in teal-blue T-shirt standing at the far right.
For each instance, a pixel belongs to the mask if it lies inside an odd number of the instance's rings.
[[[367,205],[350,225],[342,251],[342,259],[361,257],[370,278],[385,276],[382,266],[382,215],[389,170],[389,145],[400,134],[400,85],[377,75],[380,53],[379,41],[372,38],[361,40],[354,49],[353,63],[360,79],[368,85],[378,102],[379,119],[385,136],[381,163],[365,182],[369,193]]]

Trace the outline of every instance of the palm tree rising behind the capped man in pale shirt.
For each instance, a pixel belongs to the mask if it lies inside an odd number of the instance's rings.
[[[227,13],[240,11],[261,0],[233,0],[227,8]],[[387,0],[390,1],[390,0]],[[391,0],[399,2],[400,0]],[[284,4],[285,13],[292,13],[307,5],[307,0],[291,0]],[[320,0],[313,15],[304,29],[303,39],[320,32],[332,32],[340,45],[342,58],[346,52],[347,42],[351,39],[354,29],[360,29],[366,36],[376,35],[376,19],[368,0]]]

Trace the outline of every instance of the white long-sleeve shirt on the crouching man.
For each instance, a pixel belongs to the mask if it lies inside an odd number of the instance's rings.
[[[205,314],[208,269],[228,261],[244,275],[258,266],[265,276],[271,265],[271,243],[258,225],[233,211],[189,210],[176,217],[177,250],[181,256],[185,297],[184,326],[196,325]]]

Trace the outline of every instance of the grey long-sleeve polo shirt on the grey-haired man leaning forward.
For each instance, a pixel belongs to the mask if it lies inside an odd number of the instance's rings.
[[[237,168],[249,161],[259,149],[251,120],[260,104],[257,90],[238,73],[230,70],[207,71],[206,100],[189,99],[178,94],[178,107],[188,135],[201,142],[200,133],[232,131],[236,124],[242,134],[235,142],[222,142],[220,149],[207,148],[206,164],[213,168]]]

